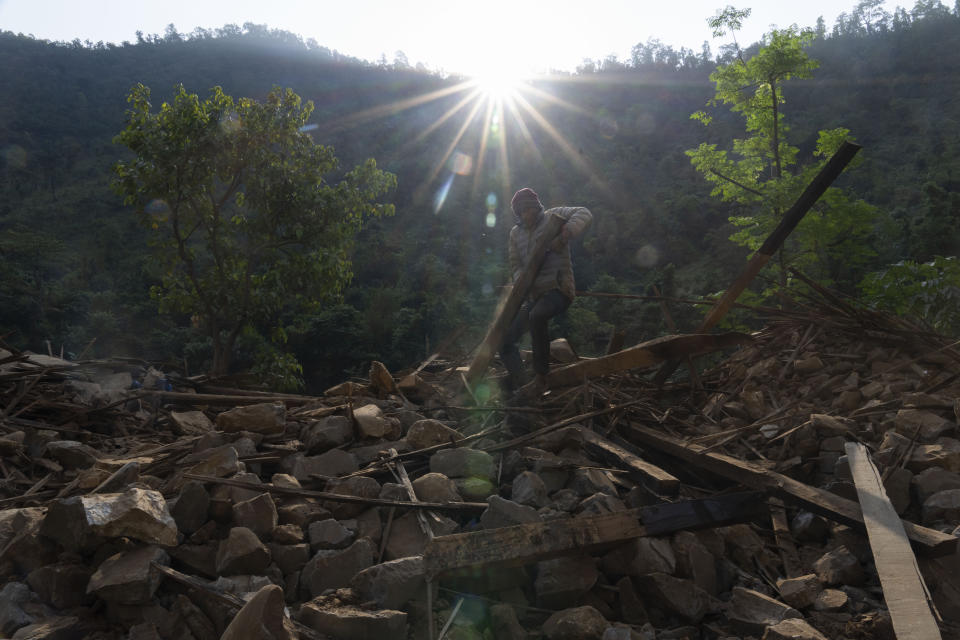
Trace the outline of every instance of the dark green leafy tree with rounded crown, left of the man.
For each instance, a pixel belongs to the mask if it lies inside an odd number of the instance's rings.
[[[290,89],[257,102],[215,87],[201,101],[178,86],[157,112],[149,98],[143,85],[130,92],[116,141],[136,157],[116,164],[114,185],[155,232],[160,310],[193,318],[223,374],[241,333],[282,344],[281,317],[339,296],[354,235],[393,213],[374,200],[396,179],[367,160],[328,182],[337,159],[303,132],[313,104]]]

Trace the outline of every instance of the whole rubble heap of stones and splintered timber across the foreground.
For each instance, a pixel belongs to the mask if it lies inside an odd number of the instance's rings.
[[[848,443],[958,637],[960,354],[899,319],[826,300],[523,402],[0,355],[3,637],[893,638]]]

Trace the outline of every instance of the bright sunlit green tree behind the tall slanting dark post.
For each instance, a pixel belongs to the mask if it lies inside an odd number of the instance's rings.
[[[708,23],[719,37],[735,33],[748,15],[749,10],[727,7]],[[740,228],[731,239],[751,250],[760,247],[849,134],[843,128],[820,131],[814,157],[804,165],[798,160],[799,149],[788,142],[783,86],[791,79],[812,76],[818,63],[804,48],[813,39],[812,31],[795,26],[774,29],[749,59],[734,41],[736,55],[710,76],[716,94],[708,104],[729,105],[744,118],[747,135],[734,139],[729,151],[704,142],[686,152],[694,167],[713,183],[712,195],[742,205],[745,213],[730,217]],[[705,111],[691,117],[706,126],[712,123]],[[828,190],[779,252],[781,285],[787,284],[790,265],[816,266],[818,277],[831,281],[863,263],[872,255],[864,239],[875,213],[863,201],[835,188]]]

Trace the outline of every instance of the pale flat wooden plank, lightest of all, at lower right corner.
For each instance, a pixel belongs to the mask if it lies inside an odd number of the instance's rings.
[[[848,442],[845,448],[893,630],[899,640],[939,640],[917,559],[880,473],[862,444]]]

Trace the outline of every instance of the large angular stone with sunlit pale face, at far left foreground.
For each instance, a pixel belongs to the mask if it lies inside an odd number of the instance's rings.
[[[69,550],[85,549],[97,538],[133,538],[147,544],[177,544],[177,524],[158,491],[76,496],[50,505],[40,534]]]

